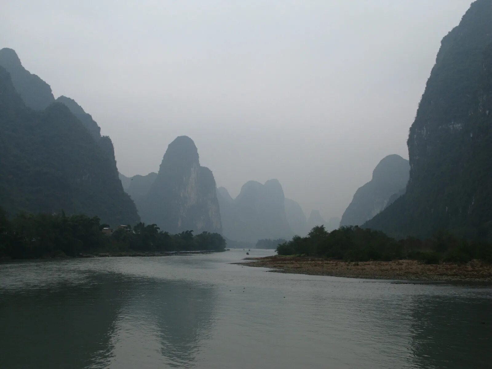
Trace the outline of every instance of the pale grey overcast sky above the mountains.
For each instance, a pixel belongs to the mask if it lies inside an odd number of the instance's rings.
[[[1,1],[0,47],[75,99],[125,175],[188,135],[217,186],[341,216],[406,139],[471,0]]]

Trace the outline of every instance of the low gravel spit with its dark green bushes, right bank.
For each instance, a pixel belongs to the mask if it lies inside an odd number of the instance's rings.
[[[283,273],[407,280],[492,280],[492,244],[438,232],[427,240],[395,240],[357,226],[328,232],[323,226],[306,237],[277,246],[277,256],[249,258],[242,265]]]

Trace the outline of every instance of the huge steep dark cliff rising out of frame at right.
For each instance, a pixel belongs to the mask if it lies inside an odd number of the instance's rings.
[[[492,239],[491,44],[492,3],[477,0],[441,42],[410,128],[406,193],[366,227]]]

